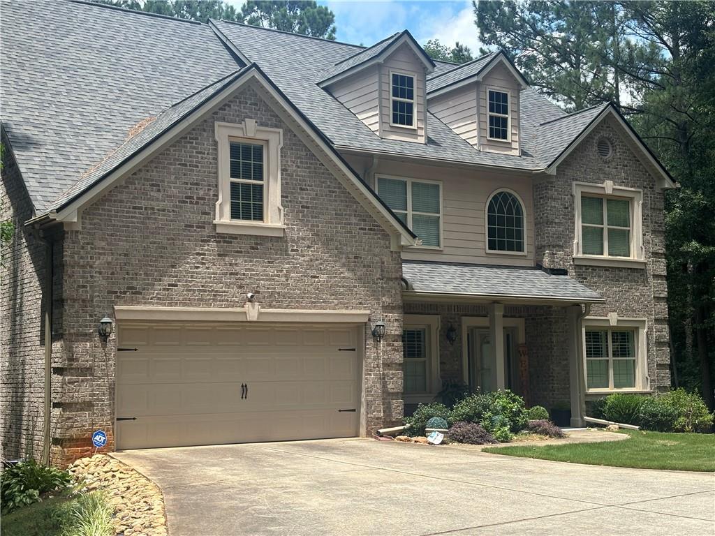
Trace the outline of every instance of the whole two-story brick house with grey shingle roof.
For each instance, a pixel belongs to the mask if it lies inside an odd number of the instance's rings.
[[[445,381],[573,425],[669,387],[674,184],[613,106],[407,31],[1,24],[4,456],[369,435]]]

